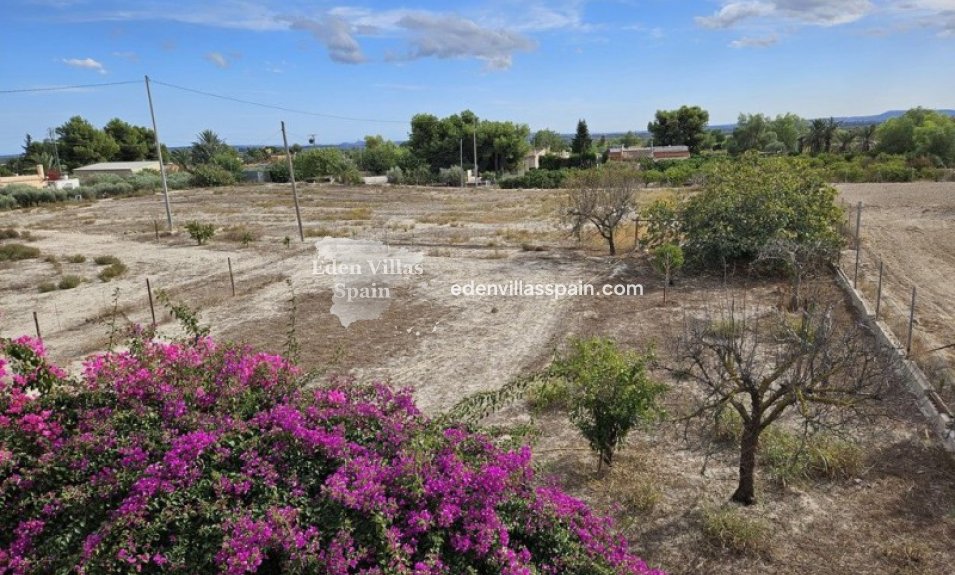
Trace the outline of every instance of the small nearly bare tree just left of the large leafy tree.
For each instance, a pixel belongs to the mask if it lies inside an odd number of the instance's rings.
[[[568,185],[563,217],[571,233],[580,233],[593,224],[607,241],[610,255],[616,255],[615,236],[623,218],[634,209],[634,196],[640,186],[640,176],[628,166],[608,164],[580,172]]]

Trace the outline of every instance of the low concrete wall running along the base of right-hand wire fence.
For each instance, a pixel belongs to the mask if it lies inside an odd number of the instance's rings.
[[[895,354],[898,359],[896,371],[912,395],[915,396],[919,411],[928,419],[945,449],[955,453],[955,422],[953,422],[952,414],[932,387],[932,383],[925,377],[921,368],[907,357],[905,346],[892,333],[892,329],[885,322],[875,319],[875,311],[872,306],[858,290],[852,287],[852,280],[838,268],[836,268],[836,280],[839,286],[849,295],[852,306],[865,318],[866,325],[879,341],[879,345],[891,349]]]

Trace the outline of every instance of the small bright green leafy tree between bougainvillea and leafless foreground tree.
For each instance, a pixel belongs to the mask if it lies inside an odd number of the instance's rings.
[[[613,464],[614,453],[640,422],[658,417],[666,386],[650,379],[650,354],[621,351],[609,339],[578,339],[558,355],[549,375],[570,387],[570,419],[597,453],[597,471]]]

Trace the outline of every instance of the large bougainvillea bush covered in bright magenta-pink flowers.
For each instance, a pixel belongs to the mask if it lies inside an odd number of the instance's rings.
[[[0,573],[659,574],[606,519],[407,391],[303,389],[209,338],[0,340]]]

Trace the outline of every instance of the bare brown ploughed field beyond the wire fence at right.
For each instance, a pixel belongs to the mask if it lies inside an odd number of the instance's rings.
[[[853,212],[858,202],[863,204],[862,289],[874,302],[881,259],[882,309],[888,312],[896,335],[905,341],[912,288],[917,288],[913,353],[955,410],[955,183],[840,184],[838,188]],[[854,218],[853,213],[853,229]],[[843,264],[852,269],[855,262]]]

